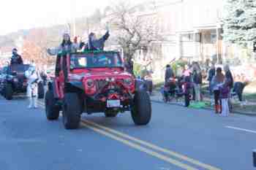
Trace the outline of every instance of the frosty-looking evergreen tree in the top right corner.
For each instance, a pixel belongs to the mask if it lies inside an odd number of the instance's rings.
[[[244,47],[256,42],[256,1],[226,0],[224,39]]]

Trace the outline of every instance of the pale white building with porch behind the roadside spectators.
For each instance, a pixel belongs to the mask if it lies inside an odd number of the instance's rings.
[[[142,47],[135,62],[146,65],[151,58],[149,69],[162,79],[165,65],[178,58],[204,63],[241,58],[241,49],[222,41],[222,11],[222,0],[156,0],[138,5],[136,15],[158,18],[165,41]]]

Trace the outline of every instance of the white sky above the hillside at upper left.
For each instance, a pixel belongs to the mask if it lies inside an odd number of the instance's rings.
[[[113,0],[1,0],[0,35],[19,29],[66,23],[90,15]]]

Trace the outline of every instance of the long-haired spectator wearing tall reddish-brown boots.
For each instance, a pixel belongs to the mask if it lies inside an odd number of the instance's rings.
[[[214,91],[214,108],[215,113],[221,112],[221,101],[219,98],[219,85],[224,82],[225,76],[222,74],[222,68],[218,67],[215,76],[211,80],[211,88]]]

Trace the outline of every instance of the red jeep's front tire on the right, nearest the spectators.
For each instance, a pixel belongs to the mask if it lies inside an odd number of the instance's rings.
[[[148,93],[137,91],[132,106],[132,120],[136,125],[146,125],[151,120],[151,101]]]

